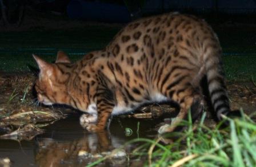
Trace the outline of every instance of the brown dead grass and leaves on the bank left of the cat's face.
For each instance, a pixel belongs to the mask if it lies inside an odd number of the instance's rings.
[[[39,128],[65,118],[57,108],[37,103],[33,75],[2,75],[0,78],[0,138],[31,140],[43,133]]]

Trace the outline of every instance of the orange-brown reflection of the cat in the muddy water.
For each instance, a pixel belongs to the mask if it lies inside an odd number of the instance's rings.
[[[109,132],[86,133],[81,139],[57,141],[42,139],[35,157],[38,166],[85,166],[99,158],[111,155],[105,165],[127,165],[125,150],[115,150],[125,140],[109,135]],[[113,151],[114,150],[114,151]]]

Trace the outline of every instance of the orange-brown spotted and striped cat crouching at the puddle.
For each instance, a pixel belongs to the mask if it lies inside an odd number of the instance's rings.
[[[222,49],[217,35],[201,19],[169,13],[129,23],[103,50],[71,63],[59,51],[50,64],[34,55],[39,79],[38,100],[46,105],[71,105],[83,112],[88,131],[102,131],[111,115],[133,111],[150,101],[175,101],[180,106],[171,132],[189,109],[203,109],[200,82],[207,76],[211,103],[219,120],[230,113],[223,81]]]

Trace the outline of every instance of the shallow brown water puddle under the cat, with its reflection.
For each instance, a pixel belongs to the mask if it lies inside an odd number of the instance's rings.
[[[136,145],[115,149],[131,139],[153,139],[157,134],[157,121],[150,119],[115,118],[109,131],[101,133],[85,131],[78,120],[78,114],[69,115],[31,141],[0,140],[0,157],[8,157],[11,166],[85,166],[111,154],[100,166],[127,166],[127,155]]]

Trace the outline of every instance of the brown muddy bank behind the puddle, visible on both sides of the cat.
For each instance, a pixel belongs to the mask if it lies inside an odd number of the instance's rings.
[[[36,77],[32,74],[0,73],[0,135],[1,138],[31,140],[43,133],[42,127],[65,119],[78,112],[69,107],[43,106],[38,103],[34,92]],[[227,82],[231,108],[243,109],[247,115],[256,111],[256,85],[251,82]],[[137,119],[157,118],[163,113],[173,113],[174,108],[167,105],[148,105],[132,115]],[[123,116],[122,116],[123,117]],[[206,124],[213,125],[209,114]]]

